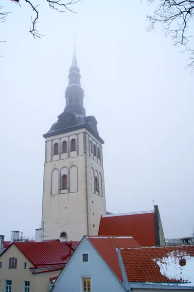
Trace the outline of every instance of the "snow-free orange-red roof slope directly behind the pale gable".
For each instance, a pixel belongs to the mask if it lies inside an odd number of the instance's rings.
[[[99,254],[104,258],[106,263],[122,281],[122,274],[119,265],[119,260],[116,252],[116,247],[135,247],[140,246],[133,237],[99,237],[87,236],[88,240],[92,243]]]

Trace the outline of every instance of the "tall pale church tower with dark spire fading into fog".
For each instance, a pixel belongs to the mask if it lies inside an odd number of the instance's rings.
[[[94,116],[86,116],[75,48],[65,91],[66,107],[43,135],[45,164],[42,225],[45,239],[98,235],[106,215],[104,141]]]

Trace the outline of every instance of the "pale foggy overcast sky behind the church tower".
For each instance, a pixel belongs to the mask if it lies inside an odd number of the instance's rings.
[[[30,7],[0,25],[0,234],[35,237],[41,224],[44,138],[64,110],[74,34],[87,115],[95,115],[103,147],[106,207],[115,213],[159,205],[166,238],[194,226],[194,76],[187,55],[161,28],[145,30],[153,6],[139,1],[81,0],[57,13],[40,0],[30,35]],[[194,44],[194,43],[193,43]]]

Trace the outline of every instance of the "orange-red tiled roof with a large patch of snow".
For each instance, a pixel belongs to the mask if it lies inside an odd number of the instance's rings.
[[[120,251],[130,282],[194,283],[194,245],[124,248]]]

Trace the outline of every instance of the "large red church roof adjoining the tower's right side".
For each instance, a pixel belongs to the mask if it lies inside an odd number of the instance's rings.
[[[156,245],[154,211],[101,217],[99,236],[132,236],[141,246]]]

